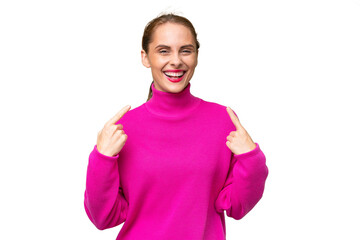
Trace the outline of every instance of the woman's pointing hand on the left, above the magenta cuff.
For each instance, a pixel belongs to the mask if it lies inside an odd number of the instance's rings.
[[[131,106],[123,107],[114,117],[112,117],[101,129],[97,136],[97,150],[106,156],[113,157],[117,155],[127,140],[127,135],[123,130],[122,124],[116,124]]]

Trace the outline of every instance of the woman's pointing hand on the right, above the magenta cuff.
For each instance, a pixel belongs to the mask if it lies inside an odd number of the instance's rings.
[[[231,152],[235,155],[254,150],[256,148],[256,144],[253,142],[245,128],[241,125],[240,120],[233,110],[230,107],[227,107],[226,111],[236,127],[236,131],[230,132],[230,134],[226,137],[226,146],[228,146]]]

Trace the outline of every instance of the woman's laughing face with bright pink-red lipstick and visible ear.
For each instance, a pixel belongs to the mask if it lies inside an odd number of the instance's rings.
[[[194,74],[197,58],[191,31],[177,23],[159,25],[148,53],[141,51],[143,65],[151,68],[155,88],[163,92],[181,92]]]

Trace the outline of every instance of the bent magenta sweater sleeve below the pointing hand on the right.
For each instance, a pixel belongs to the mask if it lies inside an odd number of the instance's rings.
[[[236,220],[243,218],[261,199],[268,176],[266,158],[259,144],[246,153],[231,154],[231,164],[224,187],[215,208],[226,210],[226,215]]]

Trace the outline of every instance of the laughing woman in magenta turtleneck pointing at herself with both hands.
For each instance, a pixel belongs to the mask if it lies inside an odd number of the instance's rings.
[[[117,239],[225,239],[224,211],[241,219],[262,197],[268,169],[259,145],[230,108],[190,92],[199,46],[184,17],[149,22],[141,51],[153,77],[149,99],[98,133],[85,210],[98,229],[124,222]]]

